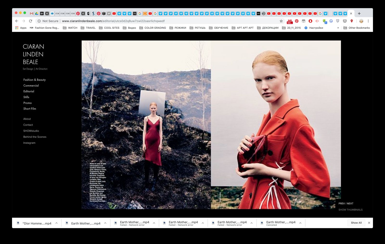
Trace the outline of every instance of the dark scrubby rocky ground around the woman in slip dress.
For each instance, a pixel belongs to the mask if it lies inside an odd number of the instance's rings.
[[[99,74],[91,118],[82,96],[82,208],[210,208],[210,134],[183,124],[181,111],[167,102],[159,182],[156,191],[144,191],[144,118],[137,113],[141,89]],[[89,201],[90,162],[106,163],[105,203]]]

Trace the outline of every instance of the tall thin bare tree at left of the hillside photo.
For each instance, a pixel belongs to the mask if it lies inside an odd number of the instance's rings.
[[[98,58],[99,48],[102,41],[85,41],[83,46],[85,49],[85,52],[90,59],[91,65],[92,65],[92,79],[91,79],[91,95],[88,98],[87,95],[84,93],[84,96],[86,97],[86,101],[88,103],[88,106],[90,107],[89,111],[89,117],[92,116],[92,97],[94,96],[94,85],[95,81],[97,79],[96,77],[96,62]]]

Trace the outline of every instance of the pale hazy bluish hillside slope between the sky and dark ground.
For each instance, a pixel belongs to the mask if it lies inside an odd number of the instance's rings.
[[[129,69],[129,68],[128,68]],[[151,89],[166,92],[166,100],[183,112],[183,122],[189,126],[211,132],[211,70],[203,69],[204,79],[200,79],[201,71],[171,71],[168,73],[149,73],[141,75],[116,74],[111,69],[96,65],[100,74],[118,77],[123,81]],[[82,84],[89,85],[92,66],[82,63]],[[205,106],[203,127],[203,102]]]

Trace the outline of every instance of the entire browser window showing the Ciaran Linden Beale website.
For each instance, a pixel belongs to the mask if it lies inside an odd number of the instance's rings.
[[[373,228],[372,66],[372,8],[12,8],[12,228]]]

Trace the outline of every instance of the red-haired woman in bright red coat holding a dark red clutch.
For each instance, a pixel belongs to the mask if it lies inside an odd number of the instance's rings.
[[[246,171],[236,168],[239,176],[248,178],[238,208],[291,209],[283,190],[284,180],[311,195],[330,198],[330,176],[314,130],[299,109],[298,100],[288,96],[290,74],[285,59],[275,51],[265,51],[256,56],[252,70],[255,86],[269,104],[256,134],[267,135],[268,152],[261,163],[244,164]],[[251,142],[246,135],[238,153],[248,151]]]

